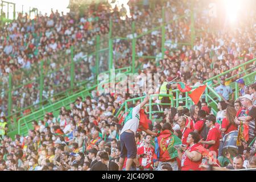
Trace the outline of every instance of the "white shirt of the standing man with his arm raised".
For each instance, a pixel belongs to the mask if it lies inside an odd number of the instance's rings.
[[[133,131],[133,133],[135,134],[136,131],[139,128],[139,118],[140,118],[140,114],[139,114],[139,110],[141,109],[141,104],[137,105],[136,107],[134,107],[132,109],[132,113],[130,113],[131,115],[127,114],[126,117],[131,117],[131,119],[129,119],[125,125],[123,126],[123,129],[121,131],[121,134],[126,131],[126,130],[131,130]]]

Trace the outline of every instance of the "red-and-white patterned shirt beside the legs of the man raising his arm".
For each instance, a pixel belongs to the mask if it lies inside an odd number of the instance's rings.
[[[139,163],[144,167],[144,168],[147,168],[147,169],[152,169],[151,167],[151,164],[152,166],[154,165],[154,162],[153,162],[153,156],[154,156],[154,148],[152,147],[139,147],[138,148],[138,151],[137,151],[137,154],[138,155],[141,155],[141,154],[146,154],[146,158],[139,158]],[[142,160],[146,162],[146,166],[145,163],[143,162],[142,163]]]

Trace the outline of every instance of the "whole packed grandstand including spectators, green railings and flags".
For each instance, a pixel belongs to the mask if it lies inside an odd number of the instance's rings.
[[[101,2],[3,23],[0,170],[255,169],[255,10],[230,26],[208,3],[130,1],[122,20]],[[138,80],[112,90],[113,72]],[[136,92],[149,75],[154,89]]]

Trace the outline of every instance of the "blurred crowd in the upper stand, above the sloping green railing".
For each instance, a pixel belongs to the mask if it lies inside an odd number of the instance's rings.
[[[182,73],[189,77],[189,72],[193,75],[207,79],[213,75],[236,67],[255,56],[255,36],[247,32],[253,32],[255,17],[250,18],[245,28],[236,30],[216,31],[201,34],[196,40],[196,45],[192,49],[189,46],[181,46],[179,43],[189,42],[191,32],[189,30],[189,2],[167,2],[166,9],[166,55],[162,60],[161,31],[156,30],[151,34],[142,36],[137,40],[136,52],[137,63],[144,63],[143,69],[152,65],[159,65],[164,69],[164,75],[175,76]],[[156,3],[154,16],[153,11],[140,9],[133,6],[131,12],[133,18],[121,21],[118,13],[110,14],[108,9],[99,6],[97,13],[86,11],[83,16],[77,14],[51,13],[49,16],[38,16],[31,20],[27,15],[20,14],[18,19],[10,23],[1,30],[1,109],[7,115],[7,92],[9,84],[9,72],[13,73],[13,111],[19,111],[31,105],[39,104],[39,61],[44,61],[44,82],[48,86],[43,90],[43,100],[57,100],[55,94],[63,92],[69,88],[71,65],[68,55],[70,47],[75,47],[75,77],[76,85],[84,80],[93,80],[96,75],[96,57],[85,56],[89,52],[95,51],[92,46],[96,42],[96,35],[101,39],[109,31],[109,17],[113,18],[113,35],[130,38],[131,22],[135,20],[135,36],[147,32],[155,26],[159,26],[162,20],[162,6]],[[185,14],[184,18],[178,18]],[[204,11],[196,11],[197,17],[195,26],[202,30],[207,30],[207,23],[211,19],[204,15]],[[42,26],[43,25],[43,26]],[[121,25],[121,26],[120,26]],[[227,36],[228,35],[228,36]],[[236,37],[236,39],[235,39]],[[131,61],[131,41],[114,39],[114,65],[115,68],[128,66]],[[138,44],[138,42],[140,42]],[[23,45],[24,46],[20,46]],[[108,42],[102,43],[101,48],[107,48]],[[83,60],[81,57],[85,56]],[[140,56],[156,56],[155,60],[144,59]],[[100,54],[100,72],[106,71],[108,51]],[[242,59],[238,59],[242,57]],[[46,61],[47,60],[47,61]],[[161,60],[161,61],[160,61]],[[175,63],[175,67],[172,63]],[[82,61],[82,62],[81,62]],[[172,63],[171,63],[172,62]],[[81,64],[84,63],[84,64]],[[165,64],[167,63],[167,64]],[[210,65],[210,67],[209,67]],[[61,69],[61,67],[66,66]],[[173,68],[174,70],[170,69]],[[160,68],[157,68],[160,69]],[[254,71],[255,68],[251,68]],[[254,70],[253,70],[254,69]],[[53,72],[55,71],[56,72]],[[90,72],[90,70],[92,72]],[[201,72],[201,73],[199,73]],[[174,74],[172,74],[174,73]],[[209,74],[208,74],[209,73]],[[236,75],[232,72],[232,76]],[[228,75],[229,76],[229,75]],[[186,79],[187,77],[184,77]],[[26,82],[36,80],[30,84]],[[183,78],[182,78],[183,79]],[[17,87],[20,84],[23,86]],[[39,105],[38,105],[39,106]]]

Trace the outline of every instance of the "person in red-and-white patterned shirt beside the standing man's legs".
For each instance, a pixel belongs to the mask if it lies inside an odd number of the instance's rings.
[[[144,145],[139,147],[137,151],[137,154],[141,157],[139,158],[139,163],[144,167],[144,171],[151,171],[153,169],[153,156],[155,151],[150,144],[151,139],[151,135],[146,135]]]

